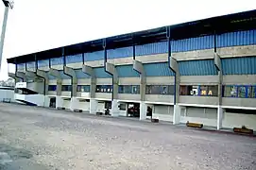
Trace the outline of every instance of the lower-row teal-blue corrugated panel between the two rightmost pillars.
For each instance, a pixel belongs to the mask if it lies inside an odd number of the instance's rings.
[[[179,61],[181,76],[217,75],[213,59]]]

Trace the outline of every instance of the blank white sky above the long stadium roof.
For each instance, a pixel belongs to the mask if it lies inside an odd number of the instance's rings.
[[[0,79],[17,55],[255,8],[255,0],[15,0]],[[3,15],[0,2],[1,26]]]

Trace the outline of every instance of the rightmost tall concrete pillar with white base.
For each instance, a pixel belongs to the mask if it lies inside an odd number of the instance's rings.
[[[222,109],[222,82],[223,74],[221,68],[221,59],[217,53],[214,53],[214,66],[218,72],[218,109],[217,109],[217,129],[222,128],[223,109]]]

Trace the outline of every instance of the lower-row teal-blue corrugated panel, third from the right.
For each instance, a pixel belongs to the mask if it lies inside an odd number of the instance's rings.
[[[145,76],[174,76],[167,62],[144,64]]]

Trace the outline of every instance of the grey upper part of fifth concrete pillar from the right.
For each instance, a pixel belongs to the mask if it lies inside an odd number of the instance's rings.
[[[83,64],[82,72],[88,76],[91,76],[90,97],[92,100],[92,98],[95,97],[95,92],[96,92],[96,76],[94,74],[94,69],[91,66]],[[91,103],[91,100],[90,100],[90,103]]]

